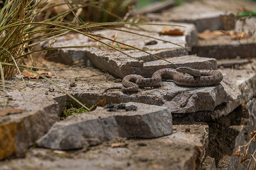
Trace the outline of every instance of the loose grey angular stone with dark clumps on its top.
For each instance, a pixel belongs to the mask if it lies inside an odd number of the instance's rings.
[[[137,111],[119,109],[109,112],[108,109],[101,108],[69,116],[55,123],[37,141],[37,145],[58,150],[80,149],[115,137],[155,138],[172,133],[172,117],[168,108],[125,103],[125,106],[131,105],[137,106]]]

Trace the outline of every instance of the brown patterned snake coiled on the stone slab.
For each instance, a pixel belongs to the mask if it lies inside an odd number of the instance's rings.
[[[158,87],[162,79],[173,80],[174,83],[182,86],[213,86],[222,81],[223,75],[218,70],[198,70],[190,67],[163,68],[154,72],[151,78],[144,78],[138,74],[126,75],[122,80],[123,86],[111,87],[104,92],[110,89],[136,92],[139,87]]]

